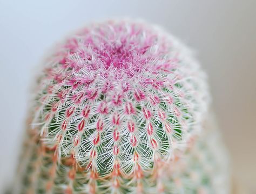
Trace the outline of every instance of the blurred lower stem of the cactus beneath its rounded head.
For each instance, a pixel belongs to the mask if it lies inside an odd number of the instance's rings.
[[[228,158],[212,117],[204,122],[200,135],[190,138],[184,152],[176,150],[169,163],[157,161],[140,178],[123,175],[118,164],[110,176],[97,177],[77,166],[73,155],[63,157],[56,166],[54,149],[38,143],[31,128],[25,142],[26,161],[18,177],[22,183],[15,193],[230,193]],[[55,178],[48,190],[53,169]]]

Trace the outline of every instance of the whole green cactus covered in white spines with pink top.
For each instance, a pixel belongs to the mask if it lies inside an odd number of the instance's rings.
[[[206,76],[176,38],[107,21],[72,35],[46,63],[16,193],[227,193],[213,184],[224,173],[205,168],[222,167],[201,135]]]

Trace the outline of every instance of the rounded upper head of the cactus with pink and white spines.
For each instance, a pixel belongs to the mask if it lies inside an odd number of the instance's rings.
[[[71,160],[88,174],[87,192],[98,185],[122,193],[120,185],[173,161],[206,107],[204,73],[175,38],[145,23],[107,21],[72,35],[48,60],[33,123],[58,170]],[[109,181],[92,181],[100,177]]]

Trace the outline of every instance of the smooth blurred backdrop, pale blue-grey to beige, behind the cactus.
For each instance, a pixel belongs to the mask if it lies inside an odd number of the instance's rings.
[[[159,24],[196,51],[209,76],[235,180],[256,193],[254,0],[0,0],[0,193],[14,175],[29,89],[45,52],[91,21],[116,17]]]

